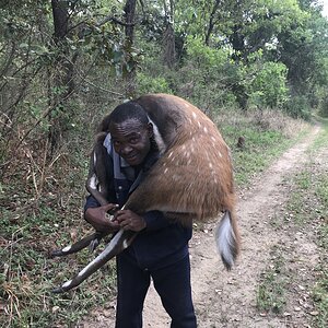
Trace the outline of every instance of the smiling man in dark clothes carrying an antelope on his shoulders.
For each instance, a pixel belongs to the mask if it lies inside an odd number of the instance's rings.
[[[101,207],[90,196],[85,220],[101,232],[115,232],[121,227],[139,232],[132,245],[116,257],[116,327],[142,327],[143,302],[152,278],[172,318],[171,327],[195,328],[188,253],[191,226],[174,223],[160,211],[140,216],[130,210],[118,210],[114,221],[106,218],[107,211],[124,206],[159,160],[153,126],[143,108],[133,102],[117,106],[106,125],[109,133],[103,145],[108,153],[104,164],[109,179],[106,191],[110,203]]]

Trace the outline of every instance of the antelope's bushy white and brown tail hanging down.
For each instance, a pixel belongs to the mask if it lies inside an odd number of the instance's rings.
[[[215,242],[225,268],[231,270],[239,254],[241,243],[234,212],[224,212],[215,232]]]

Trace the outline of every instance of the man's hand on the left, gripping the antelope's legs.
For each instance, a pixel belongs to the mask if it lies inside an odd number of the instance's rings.
[[[118,204],[108,203],[98,208],[89,208],[85,211],[84,219],[98,232],[116,232],[120,229],[119,223],[108,219],[107,212],[117,209]]]

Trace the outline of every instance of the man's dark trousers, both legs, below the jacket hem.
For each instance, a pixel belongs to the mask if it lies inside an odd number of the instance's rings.
[[[172,328],[196,328],[191,300],[189,255],[167,267],[140,268],[124,255],[117,256],[116,328],[142,327],[142,309],[151,278],[162,304],[172,318]],[[154,316],[156,314],[154,313]]]

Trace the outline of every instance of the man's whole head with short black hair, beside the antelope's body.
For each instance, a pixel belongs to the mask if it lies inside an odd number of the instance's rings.
[[[143,108],[128,102],[109,115],[109,133],[115,151],[131,166],[140,165],[151,150],[153,127]]]

